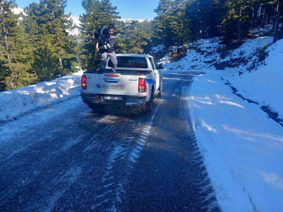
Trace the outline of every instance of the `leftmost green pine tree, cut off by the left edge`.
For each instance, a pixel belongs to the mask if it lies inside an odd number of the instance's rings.
[[[0,3],[1,48],[0,81],[2,89],[17,89],[31,84],[36,75],[31,71],[31,43],[25,34],[19,15],[12,12],[17,7],[14,1]]]

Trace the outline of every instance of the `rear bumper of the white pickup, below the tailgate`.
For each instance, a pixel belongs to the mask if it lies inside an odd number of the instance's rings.
[[[146,96],[127,96],[122,95],[123,100],[103,100],[102,94],[86,94],[80,93],[81,100],[86,104],[98,105],[124,105],[124,106],[139,106],[145,105],[147,101]]]

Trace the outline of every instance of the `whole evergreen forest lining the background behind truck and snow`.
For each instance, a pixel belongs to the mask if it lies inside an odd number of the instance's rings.
[[[272,24],[282,38],[283,0],[160,0],[153,20],[121,21],[110,0],[82,0],[80,26],[65,14],[67,0],[40,0],[14,14],[14,0],[0,0],[0,91],[17,89],[58,74],[100,65],[94,32],[116,26],[116,53],[147,54],[152,46],[182,46],[201,38],[223,37],[241,44],[249,31]],[[79,35],[69,32],[79,28]]]

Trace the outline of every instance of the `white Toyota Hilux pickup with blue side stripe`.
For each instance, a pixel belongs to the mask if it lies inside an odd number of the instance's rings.
[[[107,60],[105,72],[85,71],[81,77],[81,99],[91,109],[103,105],[140,106],[151,111],[153,99],[162,92],[163,65],[157,65],[150,55],[117,54],[118,65],[110,73]]]

